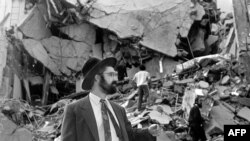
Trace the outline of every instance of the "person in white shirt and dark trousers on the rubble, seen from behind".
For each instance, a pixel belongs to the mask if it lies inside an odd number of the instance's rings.
[[[138,110],[141,110],[141,104],[143,101],[143,96],[145,96],[145,99],[147,100],[147,97],[149,96],[149,87],[148,84],[150,82],[150,74],[146,71],[146,67],[144,65],[140,66],[140,71],[137,72],[133,78],[133,81],[136,83],[138,87]]]

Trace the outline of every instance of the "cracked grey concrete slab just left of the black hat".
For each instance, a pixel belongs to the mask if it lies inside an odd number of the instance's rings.
[[[92,56],[91,46],[84,42],[64,40],[55,36],[41,42],[52,60],[60,67],[60,71],[66,75],[70,75],[71,70],[81,70],[86,60]]]

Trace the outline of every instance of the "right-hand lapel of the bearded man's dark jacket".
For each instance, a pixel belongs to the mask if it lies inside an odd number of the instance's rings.
[[[119,110],[119,107],[117,107],[117,105],[115,105],[113,102],[110,101],[110,104],[115,112],[115,115],[118,119],[119,125],[120,125],[120,129],[122,130],[122,135],[123,135],[123,139],[124,141],[128,141],[128,135],[127,135],[127,131],[126,131],[126,126],[125,126],[125,119],[126,117],[123,117],[124,115],[122,115],[122,111]],[[125,115],[126,116],[126,115]]]

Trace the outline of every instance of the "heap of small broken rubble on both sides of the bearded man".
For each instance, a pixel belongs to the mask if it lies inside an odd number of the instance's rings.
[[[197,96],[204,99],[201,113],[206,119],[205,129],[210,139],[223,138],[225,124],[249,124],[250,86],[244,68],[237,67],[239,62],[220,54],[190,62],[177,65],[178,73],[152,82],[150,96],[143,103],[142,111],[137,110],[136,89],[112,95],[109,99],[126,109],[134,128],[159,124],[163,131],[159,139],[190,138],[187,118]],[[180,66],[185,67],[179,69]],[[193,67],[196,69],[190,71]],[[47,107],[32,107],[24,101],[11,99],[2,101],[1,112],[17,126],[32,132],[34,138],[56,140],[60,138],[64,107],[75,101],[62,99]]]

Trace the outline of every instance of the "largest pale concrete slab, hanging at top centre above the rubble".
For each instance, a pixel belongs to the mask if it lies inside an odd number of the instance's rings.
[[[142,37],[141,44],[175,56],[177,34],[186,37],[192,20],[190,1],[97,0],[90,22],[115,32],[119,38]]]

